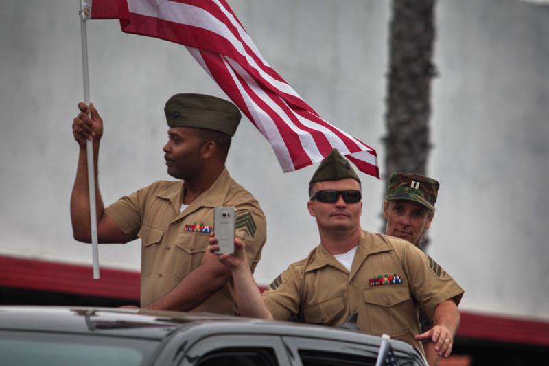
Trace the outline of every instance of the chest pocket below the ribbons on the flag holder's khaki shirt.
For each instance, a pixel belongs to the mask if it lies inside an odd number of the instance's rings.
[[[177,282],[198,268],[208,248],[209,234],[183,231],[175,242],[174,273]]]

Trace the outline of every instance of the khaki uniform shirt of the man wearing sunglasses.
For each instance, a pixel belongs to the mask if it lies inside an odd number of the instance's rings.
[[[374,286],[370,279],[378,275],[398,275],[401,283]],[[438,304],[459,304],[462,295],[454,279],[409,242],[362,231],[350,273],[319,245],[277,277],[263,299],[281,320],[339,325],[357,312],[362,332],[389,334],[423,352],[414,339],[421,333],[417,304],[432,318]]]

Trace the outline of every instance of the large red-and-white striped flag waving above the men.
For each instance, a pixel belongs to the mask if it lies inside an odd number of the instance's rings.
[[[120,19],[123,32],[185,45],[268,139],[284,172],[337,148],[379,178],[375,150],[318,116],[261,56],[225,0],[93,0],[92,19]]]

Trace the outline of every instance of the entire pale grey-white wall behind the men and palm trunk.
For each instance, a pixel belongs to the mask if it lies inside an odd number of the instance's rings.
[[[388,1],[229,1],[270,65],[325,119],[373,146],[383,166]],[[549,318],[549,9],[513,0],[437,5],[432,159],[441,181],[430,254],[465,288],[461,307]],[[178,92],[224,96],[178,45],[88,22],[91,98],[105,120],[106,203],[169,179],[163,104]],[[91,263],[71,237],[69,196],[83,99],[78,1],[0,2],[0,254]],[[316,167],[283,174],[244,119],[228,161],[261,202],[268,284],[318,244],[305,209]],[[381,225],[382,181],[361,174],[362,226]],[[139,268],[139,242],[100,247],[104,267]]]

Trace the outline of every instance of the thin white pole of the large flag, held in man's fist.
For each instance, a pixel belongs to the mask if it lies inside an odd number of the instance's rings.
[[[91,19],[91,0],[80,0],[80,35],[82,36],[82,73],[84,76],[84,102],[90,104],[90,81],[88,71],[88,36],[86,19]],[[97,208],[95,207],[95,170],[93,163],[93,141],[86,140],[88,161],[88,192],[90,198],[91,252],[93,258],[93,279],[99,279],[99,250],[97,249]]]

